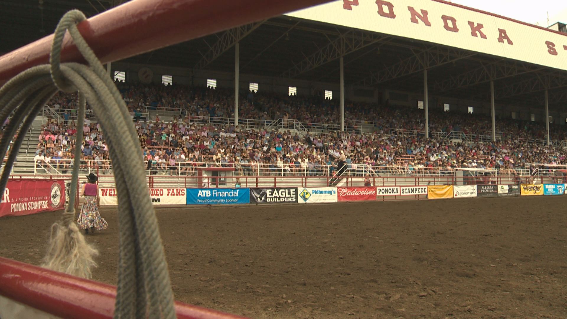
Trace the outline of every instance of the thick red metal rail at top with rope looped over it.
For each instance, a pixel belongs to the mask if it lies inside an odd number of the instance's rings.
[[[112,62],[330,0],[135,0],[79,24],[101,62]],[[53,35],[0,57],[0,85],[48,63]],[[84,62],[67,34],[62,62]]]

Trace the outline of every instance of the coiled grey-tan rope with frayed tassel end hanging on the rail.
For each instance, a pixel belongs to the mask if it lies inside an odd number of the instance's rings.
[[[108,143],[119,202],[120,255],[114,317],[175,318],[173,292],[157,219],[148,195],[136,129],[114,82],[77,29],[76,24],[85,19],[81,11],[67,12],[55,31],[50,64],[30,68],[0,89],[0,123],[12,116],[0,140],[0,161],[6,155],[10,140],[19,132],[2,170],[0,190],[5,189],[24,136],[41,108],[58,89],[67,93],[79,91],[79,127],[71,194],[77,191],[82,120],[87,102]],[[61,63],[62,41],[67,30],[88,66]],[[97,252],[86,244],[74,223],[74,201],[71,196],[62,220],[53,226],[52,243],[44,266],[90,276],[90,268],[95,265],[92,257]]]

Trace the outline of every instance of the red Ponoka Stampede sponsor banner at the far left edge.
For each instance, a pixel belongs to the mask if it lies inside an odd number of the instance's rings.
[[[65,181],[25,179],[8,181],[0,201],[1,216],[57,211],[65,206]]]

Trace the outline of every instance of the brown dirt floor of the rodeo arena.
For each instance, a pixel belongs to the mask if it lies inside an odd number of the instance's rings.
[[[565,318],[567,196],[158,209],[177,300],[253,318]],[[88,236],[116,283],[117,219]],[[43,257],[58,213],[0,219]]]

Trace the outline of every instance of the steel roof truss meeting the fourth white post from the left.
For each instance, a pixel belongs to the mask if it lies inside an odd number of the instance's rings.
[[[544,69],[543,66],[531,66],[524,62],[500,60],[497,62],[481,62],[480,68],[472,71],[450,76],[443,81],[433,83],[435,94],[445,93],[463,87],[477,85],[515,75],[536,72]]]

